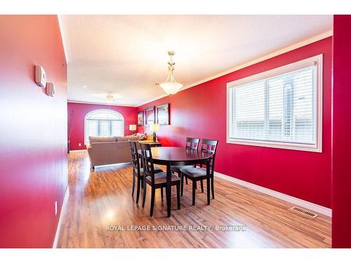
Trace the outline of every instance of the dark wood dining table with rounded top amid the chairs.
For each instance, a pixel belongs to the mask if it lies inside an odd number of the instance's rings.
[[[209,162],[212,154],[206,151],[185,149],[183,147],[154,147],[152,151],[152,161],[167,167],[166,179],[166,199],[167,217],[171,217],[171,166],[189,166],[204,164],[207,173],[207,204],[210,204],[210,168]],[[138,151],[141,154],[141,151]]]

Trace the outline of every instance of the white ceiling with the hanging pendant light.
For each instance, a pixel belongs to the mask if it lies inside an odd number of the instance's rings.
[[[332,29],[332,15],[61,15],[68,100],[137,106]]]

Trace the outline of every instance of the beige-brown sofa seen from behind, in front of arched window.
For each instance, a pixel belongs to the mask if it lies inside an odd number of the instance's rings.
[[[131,161],[129,142],[152,142],[152,135],[128,135],[124,137],[89,137],[87,145],[91,168],[114,163],[128,163]]]

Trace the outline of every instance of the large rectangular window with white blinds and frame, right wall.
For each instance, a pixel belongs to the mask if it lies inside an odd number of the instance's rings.
[[[227,142],[322,151],[322,55],[227,83]]]

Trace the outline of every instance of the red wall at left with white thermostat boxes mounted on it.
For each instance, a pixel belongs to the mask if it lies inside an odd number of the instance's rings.
[[[50,248],[67,187],[67,67],[58,18],[0,15],[0,36],[0,248]],[[34,83],[34,65],[55,83],[55,97]]]

